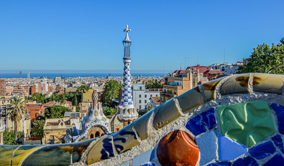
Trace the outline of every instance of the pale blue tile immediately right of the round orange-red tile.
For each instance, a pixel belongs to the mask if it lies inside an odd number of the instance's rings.
[[[200,161],[199,165],[203,166],[214,159],[217,159],[217,136],[214,131],[205,133],[199,138],[196,138],[196,144],[198,145],[200,151]]]

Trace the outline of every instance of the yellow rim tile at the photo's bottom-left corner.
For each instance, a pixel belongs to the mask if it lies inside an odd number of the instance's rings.
[[[1,145],[0,146],[0,165],[1,166],[10,166],[13,152],[17,149],[18,146],[13,145]]]

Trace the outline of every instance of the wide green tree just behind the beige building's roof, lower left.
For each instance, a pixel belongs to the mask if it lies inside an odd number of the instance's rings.
[[[46,118],[63,118],[64,112],[70,111],[70,109],[61,105],[53,105],[44,109],[44,117]]]

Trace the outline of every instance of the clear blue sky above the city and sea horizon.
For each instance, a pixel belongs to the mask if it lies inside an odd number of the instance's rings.
[[[131,70],[242,61],[284,37],[284,0],[1,0],[0,70]],[[186,61],[188,66],[188,60]]]

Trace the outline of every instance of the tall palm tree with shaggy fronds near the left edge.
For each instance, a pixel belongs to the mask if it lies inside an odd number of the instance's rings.
[[[22,97],[14,97],[7,105],[7,116],[14,122],[14,133],[17,135],[18,123],[26,115],[25,100]]]

